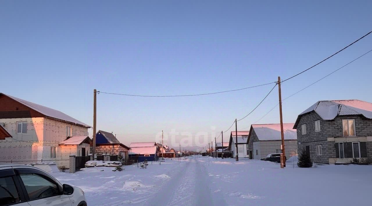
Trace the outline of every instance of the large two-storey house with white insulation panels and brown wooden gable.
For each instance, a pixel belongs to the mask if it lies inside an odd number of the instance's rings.
[[[0,140],[2,161],[55,161],[60,166],[68,137],[88,136],[89,125],[60,111],[0,93],[0,124],[12,138]]]

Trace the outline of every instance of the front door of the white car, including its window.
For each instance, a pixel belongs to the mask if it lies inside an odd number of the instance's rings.
[[[71,206],[70,197],[48,174],[36,169],[16,169],[30,206]]]

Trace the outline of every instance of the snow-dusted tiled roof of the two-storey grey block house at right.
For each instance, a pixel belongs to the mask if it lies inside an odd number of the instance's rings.
[[[311,107],[298,115],[294,124],[297,128],[302,115],[315,111],[323,120],[333,120],[338,115],[362,115],[365,118],[372,119],[372,103],[352,100],[326,100],[318,101]]]

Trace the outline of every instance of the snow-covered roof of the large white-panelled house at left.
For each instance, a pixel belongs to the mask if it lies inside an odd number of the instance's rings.
[[[81,121],[78,121],[70,116],[68,116],[67,114],[64,114],[63,112],[60,112],[58,110],[55,110],[55,109],[51,109],[49,107],[44,107],[42,105],[38,105],[38,104],[35,104],[35,103],[32,103],[32,102],[29,102],[29,101],[26,101],[26,100],[23,100],[23,99],[20,99],[20,98],[16,98],[16,97],[12,97],[10,95],[7,95],[7,94],[4,94],[4,93],[0,93],[0,95],[5,95],[17,102],[19,102],[20,104],[23,104],[25,105],[26,107],[28,108],[31,108],[49,118],[55,118],[57,119],[57,121],[67,121],[68,123],[70,124],[75,124],[75,125],[78,125],[78,126],[81,126],[81,127],[85,127],[85,128],[90,128],[89,125],[87,124],[84,124],[83,122]]]

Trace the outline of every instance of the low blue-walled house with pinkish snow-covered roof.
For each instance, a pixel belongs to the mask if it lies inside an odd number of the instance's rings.
[[[155,142],[131,143],[129,145],[129,161],[142,162],[158,160],[158,147]]]

